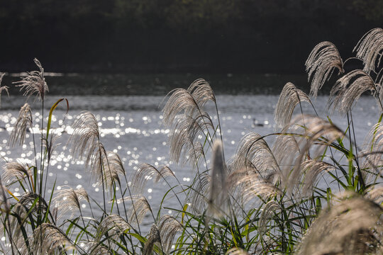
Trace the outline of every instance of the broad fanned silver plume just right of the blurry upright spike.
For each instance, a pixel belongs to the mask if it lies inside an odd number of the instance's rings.
[[[256,132],[250,132],[240,140],[233,159],[233,169],[252,167],[261,176],[279,173],[279,166],[269,145]]]

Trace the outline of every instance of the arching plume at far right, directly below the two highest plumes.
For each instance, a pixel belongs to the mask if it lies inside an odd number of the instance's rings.
[[[369,74],[362,70],[353,70],[336,81],[330,91],[328,108],[338,109],[340,113],[348,113],[355,105],[357,99],[365,92],[371,91],[377,95],[381,110],[382,103],[379,101],[379,91]]]

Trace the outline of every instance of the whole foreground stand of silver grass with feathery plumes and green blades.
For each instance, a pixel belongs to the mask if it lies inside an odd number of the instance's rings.
[[[31,165],[2,163],[0,253],[382,254],[382,28],[363,35],[354,51],[363,69],[348,71],[348,60],[342,60],[333,43],[316,45],[306,61],[309,95],[287,83],[275,108],[275,132],[248,133],[232,158],[225,154],[209,83],[198,79],[187,89],[170,91],[162,110],[163,125],[170,129],[169,157],[195,172],[190,185],[181,184],[169,166],[143,163],[138,171],[127,171],[118,154],[109,151],[113,148],[104,147],[95,116],[82,112],[67,147],[71,157],[84,160],[101,187],[102,204],[84,188],[46,191],[57,146],[50,132],[58,125],[52,113],[61,104],[69,108],[69,102],[60,98],[44,113],[48,85],[35,60],[38,70],[16,86],[27,98],[37,95],[41,123],[34,123],[26,103],[9,138],[9,146],[23,145],[29,131],[35,160]],[[331,77],[337,81],[328,111],[347,118],[345,130],[330,117],[307,115],[301,107],[308,103],[315,111],[312,99]],[[0,93],[7,89],[0,86]],[[381,114],[365,144],[357,145],[353,106],[366,93]],[[213,113],[206,111],[208,105]],[[265,137],[274,138],[274,144]],[[148,181],[168,186],[158,210],[143,195]],[[21,195],[11,193],[11,186],[18,186]],[[169,208],[168,199],[177,200],[178,207]],[[89,204],[89,214],[81,203]],[[95,216],[92,208],[102,214]],[[167,210],[176,213],[167,215]],[[149,232],[142,230],[145,215],[152,223]]]

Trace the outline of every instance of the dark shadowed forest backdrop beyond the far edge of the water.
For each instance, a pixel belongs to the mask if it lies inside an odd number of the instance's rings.
[[[0,1],[0,69],[297,73],[318,42],[352,55],[382,0]]]

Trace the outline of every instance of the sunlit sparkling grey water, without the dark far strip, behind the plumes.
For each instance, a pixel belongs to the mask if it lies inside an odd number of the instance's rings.
[[[45,106],[50,106],[60,96],[50,96]],[[29,101],[33,108],[34,123],[40,123],[40,102]],[[52,118],[52,132],[60,135],[57,140],[57,149],[52,157],[48,175],[48,193],[53,184],[55,190],[71,186],[72,188],[84,187],[89,196],[102,203],[101,187],[96,185],[91,174],[85,170],[84,161],[74,159],[67,148],[67,140],[72,132],[70,125],[77,115],[83,110],[91,111],[99,121],[101,142],[107,150],[118,153],[123,160],[128,175],[136,171],[142,163],[154,166],[167,165],[174,171],[181,183],[190,184],[196,170],[191,166],[174,164],[169,159],[169,146],[167,135],[169,130],[162,125],[161,102],[163,96],[67,96],[70,102],[70,111],[65,115],[65,104],[57,107]],[[258,132],[266,135],[274,131],[273,113],[277,103],[277,96],[217,96],[220,112],[223,142],[226,158],[235,154],[240,138],[248,132]],[[18,108],[23,105],[26,98],[11,96],[1,98],[0,108],[0,156],[5,161],[18,160],[26,164],[33,164],[32,135],[28,133],[25,145],[9,148],[8,140],[16,118]],[[327,98],[318,97],[315,105],[319,115],[326,118],[325,108]],[[163,104],[163,103],[162,103]],[[45,118],[49,108],[45,109]],[[213,107],[208,107],[208,112],[215,115]],[[313,113],[309,106],[304,105],[306,113]],[[358,144],[362,144],[368,130],[377,122],[379,110],[371,97],[360,98],[353,111],[355,130]],[[214,116],[216,118],[216,116]],[[345,128],[347,119],[343,116],[333,115],[335,124]],[[46,120],[45,120],[46,121]],[[45,124],[46,125],[46,124]],[[38,134],[38,125],[33,131]],[[38,135],[37,135],[38,137]],[[37,138],[38,140],[38,138]],[[272,143],[273,137],[267,141]],[[208,162],[209,164],[209,162]],[[168,187],[165,182],[148,182],[145,187],[145,196],[152,208],[160,205],[160,200]],[[14,186],[11,191],[20,195],[20,189]],[[165,200],[169,208],[179,208],[177,200],[169,196]],[[83,204],[85,214],[89,212],[87,204]],[[93,208],[97,210],[97,208]],[[99,211],[100,212],[100,211]],[[171,209],[164,212],[174,213]],[[149,215],[148,219],[149,219]],[[144,220],[144,225],[150,225],[150,220]],[[145,229],[144,229],[145,230]]]

